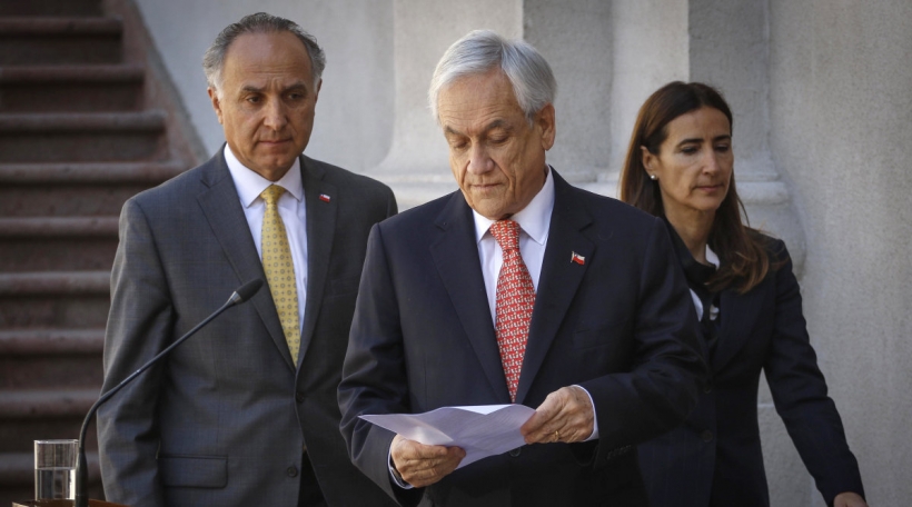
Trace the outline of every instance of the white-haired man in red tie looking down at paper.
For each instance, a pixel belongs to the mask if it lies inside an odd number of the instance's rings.
[[[646,505],[636,444],[705,375],[665,226],[545,162],[556,84],[531,46],[475,31],[429,102],[460,191],[375,226],[339,386],[355,464],[403,505]],[[535,407],[527,445],[465,453],[358,419]]]

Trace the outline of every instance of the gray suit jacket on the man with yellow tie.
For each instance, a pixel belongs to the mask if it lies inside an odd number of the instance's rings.
[[[219,153],[133,197],[120,217],[105,339],[108,390],[266,279]],[[385,505],[339,435],[339,382],[370,227],[396,213],[386,186],[301,157],[307,301],[293,361],[267,287],[102,406],[109,500],[142,506],[295,506],[307,447],[329,505]],[[329,196],[329,201],[319,196]]]

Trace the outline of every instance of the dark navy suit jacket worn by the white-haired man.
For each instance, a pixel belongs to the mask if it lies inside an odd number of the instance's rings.
[[[554,185],[516,402],[578,384],[601,438],[524,446],[424,489],[390,484],[394,435],[358,415],[509,402],[472,209],[454,192],[373,229],[339,386],[353,460],[403,505],[645,505],[634,445],[693,407],[705,367],[665,226],[556,172]]]

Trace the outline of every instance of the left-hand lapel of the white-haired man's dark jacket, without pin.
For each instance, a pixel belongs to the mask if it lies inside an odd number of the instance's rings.
[[[499,402],[508,404],[509,391],[475,241],[475,222],[462,193],[452,195],[436,223],[440,236],[430,245],[430,255],[437,271],[492,390]]]

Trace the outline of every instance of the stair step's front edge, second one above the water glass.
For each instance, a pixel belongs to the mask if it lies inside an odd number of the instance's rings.
[[[0,330],[0,356],[100,355],[103,348],[105,328]]]

